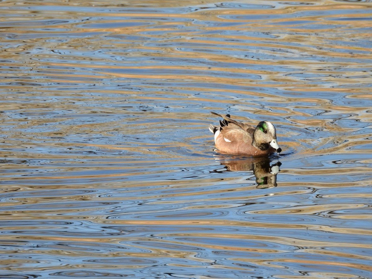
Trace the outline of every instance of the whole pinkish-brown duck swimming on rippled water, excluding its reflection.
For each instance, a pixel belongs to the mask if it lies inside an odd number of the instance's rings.
[[[217,152],[237,156],[265,156],[282,152],[276,139],[275,126],[269,121],[261,121],[256,128],[247,122],[239,122],[230,114],[211,112],[223,120],[219,126],[210,124],[209,131],[214,134]]]

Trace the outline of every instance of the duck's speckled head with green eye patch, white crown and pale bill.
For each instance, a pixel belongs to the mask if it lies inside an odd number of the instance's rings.
[[[260,150],[267,150],[271,146],[276,152],[282,152],[276,140],[276,129],[269,121],[261,121],[257,125],[253,135],[253,145]]]

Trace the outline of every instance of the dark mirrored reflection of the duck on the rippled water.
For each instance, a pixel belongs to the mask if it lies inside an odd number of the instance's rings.
[[[219,158],[221,165],[228,171],[252,171],[256,176],[257,188],[272,188],[276,184],[276,175],[280,171],[282,163],[272,163],[268,157],[265,158]]]

